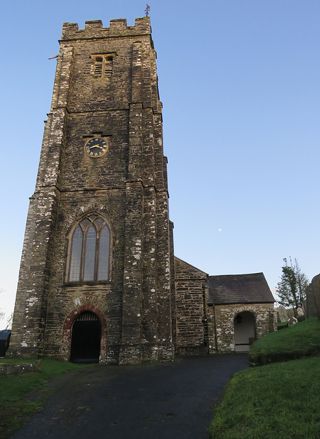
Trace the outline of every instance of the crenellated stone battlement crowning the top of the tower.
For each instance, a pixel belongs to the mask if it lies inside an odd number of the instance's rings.
[[[84,29],[77,23],[63,23],[62,40],[108,38],[112,36],[138,36],[151,34],[149,16],[136,19],[134,26],[127,26],[126,19],[110,20],[110,27],[102,27],[101,20],[86,21]]]

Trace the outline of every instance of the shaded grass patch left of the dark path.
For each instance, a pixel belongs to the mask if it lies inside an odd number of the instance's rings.
[[[0,364],[32,363],[36,359],[1,359]],[[39,410],[47,396],[41,392],[39,398],[32,400],[32,392],[42,389],[49,379],[65,372],[86,366],[72,363],[61,363],[50,359],[42,359],[42,371],[25,375],[4,375],[0,377],[0,439],[9,438],[19,429],[32,414]]]

